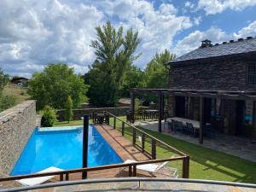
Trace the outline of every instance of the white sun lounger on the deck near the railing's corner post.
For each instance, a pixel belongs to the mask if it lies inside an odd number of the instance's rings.
[[[134,163],[134,162],[137,162],[137,161],[136,160],[125,160],[124,164]],[[166,176],[177,177],[177,169],[166,166],[167,163],[168,163],[168,161],[163,162],[160,165],[157,165],[157,164],[143,164],[143,165],[139,165],[139,166],[136,166],[136,167],[137,167],[137,169],[143,170],[143,171],[146,171],[146,172],[154,172],[154,173],[158,172],[158,173],[166,175]],[[170,174],[159,172],[162,169],[167,169],[168,172],[170,172]]]

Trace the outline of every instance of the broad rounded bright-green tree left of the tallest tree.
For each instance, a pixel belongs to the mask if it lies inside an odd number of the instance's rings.
[[[88,85],[73,72],[67,64],[50,63],[42,73],[33,73],[28,94],[37,100],[37,109],[49,105],[52,108],[65,108],[67,96],[73,100],[73,108],[79,108],[87,100]]]

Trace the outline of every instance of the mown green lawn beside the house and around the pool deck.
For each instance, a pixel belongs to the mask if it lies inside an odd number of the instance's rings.
[[[121,117],[125,120],[125,117]],[[82,121],[72,121],[69,124],[56,125],[82,125]],[[113,119],[110,119],[113,125]],[[120,130],[121,122],[117,120],[117,129]],[[256,163],[242,160],[230,154],[224,154],[216,150],[205,148],[200,145],[188,143],[174,137],[163,135],[156,131],[148,131],[141,128],[148,134],[159,138],[163,142],[183,151],[190,156],[189,177],[198,179],[211,179],[241,183],[256,183]],[[131,140],[131,129],[125,127],[125,137]],[[146,139],[146,148],[150,150],[151,141]],[[171,157],[175,153],[166,150],[163,146],[157,147],[157,158]],[[170,166],[177,167],[181,175],[182,164],[180,161],[170,163]]]

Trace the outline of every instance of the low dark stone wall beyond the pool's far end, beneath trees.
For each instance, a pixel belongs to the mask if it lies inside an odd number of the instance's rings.
[[[92,113],[108,111],[113,113],[116,116],[125,116],[126,113],[130,110],[130,107],[120,107],[120,108],[82,108],[82,109],[73,109],[73,119],[80,120],[84,114],[92,115]],[[58,120],[65,120],[65,110],[61,109],[57,111]]]

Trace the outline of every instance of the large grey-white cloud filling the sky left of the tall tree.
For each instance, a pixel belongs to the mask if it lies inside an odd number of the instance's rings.
[[[3,0],[0,13],[0,67],[6,73],[31,74],[50,61],[76,63],[76,71],[85,72],[94,60],[90,39],[103,18],[94,6]]]

